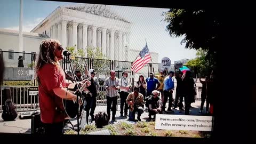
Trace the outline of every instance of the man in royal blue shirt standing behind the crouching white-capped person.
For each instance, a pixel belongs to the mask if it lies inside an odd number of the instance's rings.
[[[152,91],[157,90],[161,85],[157,78],[154,77],[154,73],[149,73],[149,77],[146,79],[147,82],[147,97],[152,93]]]

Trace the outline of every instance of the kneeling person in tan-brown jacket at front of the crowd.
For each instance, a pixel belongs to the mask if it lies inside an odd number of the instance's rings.
[[[139,87],[135,86],[133,89],[133,92],[131,92],[127,99],[126,103],[129,105],[130,114],[129,114],[129,120],[134,121],[135,120],[135,113],[138,111],[138,121],[141,121],[140,116],[143,113],[143,107],[144,107],[144,101],[143,101],[143,95],[139,93]]]

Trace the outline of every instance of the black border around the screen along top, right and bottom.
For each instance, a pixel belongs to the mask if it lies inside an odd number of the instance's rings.
[[[161,7],[161,8],[179,8],[187,7],[202,9],[212,9],[221,12],[222,28],[221,39],[222,42],[218,49],[218,85],[219,95],[214,99],[214,129],[212,139],[199,138],[166,138],[166,137],[127,137],[127,136],[108,136],[108,135],[63,135],[60,138],[54,138],[58,143],[60,142],[109,142],[109,143],[220,143],[226,141],[239,141],[243,143],[250,140],[250,133],[252,125],[249,126],[249,117],[255,114],[255,95],[252,95],[252,90],[256,88],[255,70],[256,65],[254,58],[256,54],[253,49],[252,35],[253,23],[253,7],[243,7],[244,5],[237,2],[185,2],[185,1],[169,1],[167,3],[163,0],[156,1],[63,1],[62,2],[77,2],[77,3],[94,3],[94,4],[108,4],[108,5],[125,5],[125,6],[142,6],[142,7]],[[235,5],[234,5],[235,4]],[[251,14],[251,15],[250,15]],[[251,77],[249,77],[251,76]],[[222,79],[222,81],[220,81]],[[254,87],[251,87],[254,85]],[[253,96],[254,99],[249,98]],[[254,108],[254,109],[252,109]],[[250,111],[252,110],[252,111]],[[255,122],[254,122],[255,123]],[[255,124],[253,125],[255,126]],[[15,137],[15,138],[13,138]],[[30,134],[0,134],[0,138],[6,140],[21,141],[47,141],[48,137]],[[255,140],[255,139],[254,139]],[[252,142],[253,143],[253,142]]]

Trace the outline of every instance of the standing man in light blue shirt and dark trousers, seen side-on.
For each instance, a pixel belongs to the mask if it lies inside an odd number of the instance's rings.
[[[171,107],[172,107],[172,92],[174,89],[174,81],[172,79],[173,75],[174,75],[174,72],[170,71],[169,76],[165,77],[165,79],[164,79],[164,102],[163,102],[163,107],[162,107],[163,111],[165,111],[165,105],[166,105],[167,99],[169,98],[169,106],[168,106],[167,111],[173,112],[173,110],[171,109]]]

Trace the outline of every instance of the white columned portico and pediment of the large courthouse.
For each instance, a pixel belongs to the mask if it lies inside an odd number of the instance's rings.
[[[106,5],[59,6],[30,32],[58,39],[63,47],[101,47],[111,60],[125,59],[131,23]],[[86,54],[86,53],[85,53]]]

